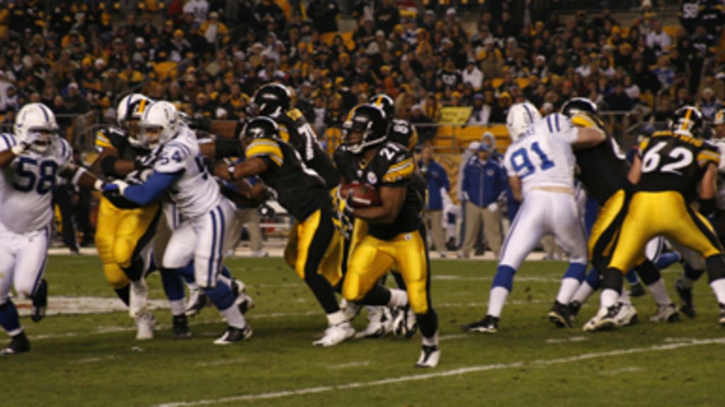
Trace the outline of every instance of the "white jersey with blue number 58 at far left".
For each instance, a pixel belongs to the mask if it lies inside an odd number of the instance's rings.
[[[0,134],[0,151],[15,145],[14,135]],[[0,228],[28,233],[50,225],[56,177],[71,162],[72,149],[62,138],[47,154],[26,150],[12,159],[0,177]]]

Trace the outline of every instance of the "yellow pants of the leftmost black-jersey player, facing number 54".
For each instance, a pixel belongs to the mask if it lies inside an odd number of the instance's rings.
[[[129,268],[132,266],[134,254],[149,244],[153,237],[158,213],[159,204],[141,209],[118,209],[101,197],[96,225],[96,249],[106,280],[116,290],[128,285],[128,274],[132,274],[134,278],[141,277],[138,270]]]

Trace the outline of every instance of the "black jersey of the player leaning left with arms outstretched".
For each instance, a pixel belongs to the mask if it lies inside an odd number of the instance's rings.
[[[268,169],[260,174],[265,185],[277,192],[277,201],[299,222],[320,207],[332,209],[332,197],[325,181],[307,168],[290,144],[273,138],[257,138],[247,146],[247,159],[265,159]]]

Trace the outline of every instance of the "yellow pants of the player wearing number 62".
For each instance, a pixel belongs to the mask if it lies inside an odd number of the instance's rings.
[[[638,192],[629,203],[609,267],[627,272],[644,256],[647,242],[659,235],[691,248],[705,259],[723,252],[710,222],[688,206],[681,193]]]

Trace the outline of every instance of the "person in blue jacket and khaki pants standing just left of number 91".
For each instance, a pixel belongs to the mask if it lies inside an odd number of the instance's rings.
[[[458,254],[468,259],[476,243],[481,225],[489,248],[498,257],[501,250],[501,213],[498,202],[508,183],[505,170],[490,159],[491,146],[480,143],[475,155],[466,161],[461,182],[461,194],[465,201],[465,238]]]

